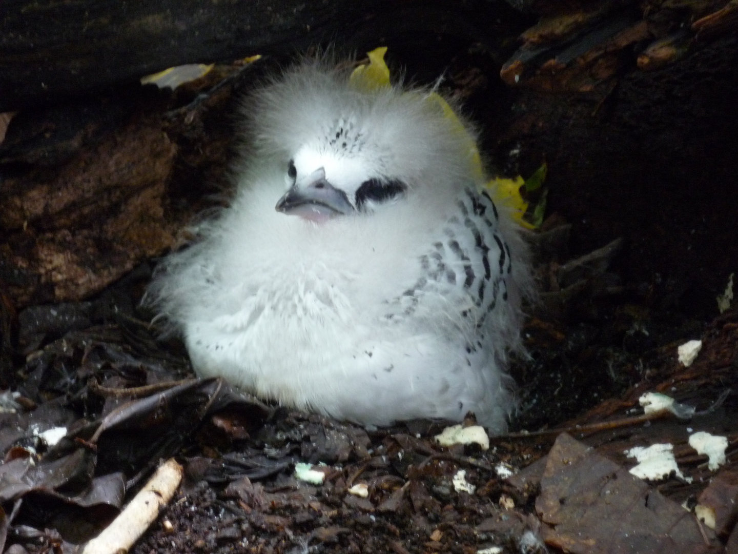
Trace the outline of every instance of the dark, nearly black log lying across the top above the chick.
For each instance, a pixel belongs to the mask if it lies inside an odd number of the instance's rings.
[[[392,37],[509,43],[524,28],[506,26],[515,17],[501,0],[4,0],[0,112],[179,64],[293,54],[330,42],[358,52]]]

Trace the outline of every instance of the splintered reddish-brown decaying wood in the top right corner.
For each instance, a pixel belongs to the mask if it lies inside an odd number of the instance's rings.
[[[738,30],[736,4],[728,0],[684,3],[681,10],[662,1],[542,4],[533,5],[543,17],[521,35],[523,45],[500,72],[509,86],[607,93],[607,83],[632,67],[634,49],[638,68],[652,70],[684,55],[695,40]]]

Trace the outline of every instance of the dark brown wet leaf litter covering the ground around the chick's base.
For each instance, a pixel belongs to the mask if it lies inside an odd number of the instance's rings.
[[[602,268],[578,278],[603,281]],[[584,288],[599,292],[588,301],[607,304],[602,287],[590,285]],[[0,539],[7,552],[75,552],[170,456],[184,463],[184,482],[134,553],[696,553],[737,541],[735,397],[704,409],[736,386],[736,311],[706,328],[693,366],[676,362],[672,343],[638,352],[648,372],[619,400],[570,420],[570,434],[492,437],[483,451],[441,447],[433,438],[444,428],[439,422],[366,429],[265,406],[221,380],[193,379],[181,345],[157,341],[134,301],[110,300],[139,290],[129,286],[124,281],[108,294],[107,310],[95,309],[98,300],[21,312],[19,336],[30,352],[16,375],[5,375],[17,392],[3,394],[0,414]],[[553,367],[551,360],[568,358],[581,365],[613,355],[610,346],[597,350],[596,341],[576,339],[582,325],[554,321],[541,315],[526,327],[534,363]],[[616,354],[635,363],[628,352]],[[641,413],[635,406],[645,391],[705,413],[690,422],[666,417],[577,432],[576,425]],[[533,397],[555,399],[554,391],[524,386],[520,394],[532,407],[519,414],[518,427],[556,421],[536,411]],[[565,417],[559,421],[556,427],[565,426]],[[687,427],[728,437],[717,478],[706,456],[687,445]],[[47,446],[55,428],[64,437]],[[656,442],[674,445],[683,478],[644,482],[628,473],[634,462],[624,451]],[[297,463],[324,481],[296,479]],[[715,531],[683,502],[711,507]]]

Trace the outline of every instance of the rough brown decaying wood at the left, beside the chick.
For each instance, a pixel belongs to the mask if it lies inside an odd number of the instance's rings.
[[[61,168],[5,178],[0,256],[16,303],[85,298],[169,247],[162,202],[176,151],[158,120],[143,119]]]

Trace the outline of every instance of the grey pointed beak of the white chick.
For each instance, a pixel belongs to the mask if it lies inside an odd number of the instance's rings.
[[[313,171],[279,199],[275,209],[292,216],[320,221],[354,211],[344,191],[325,180],[323,168]]]

